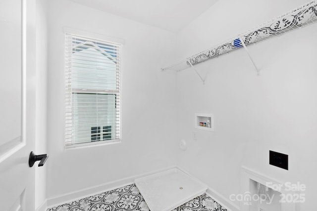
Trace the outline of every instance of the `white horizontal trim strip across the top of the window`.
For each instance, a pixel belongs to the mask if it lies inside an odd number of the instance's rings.
[[[71,34],[71,35],[80,35],[86,38],[96,39],[96,40],[103,40],[107,42],[116,42],[118,44],[124,44],[124,40],[121,38],[115,38],[107,35],[97,34],[97,33],[91,33],[87,31],[83,31],[80,29],[74,29],[69,27],[63,27],[63,32],[65,34]]]

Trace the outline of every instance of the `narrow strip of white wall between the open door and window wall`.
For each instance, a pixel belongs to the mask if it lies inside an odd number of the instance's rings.
[[[46,6],[46,1],[36,1],[36,141],[34,152],[37,155],[47,153],[48,34]],[[50,162],[50,160],[48,161]],[[45,203],[46,192],[47,164],[40,168],[35,165],[35,208],[39,208]]]

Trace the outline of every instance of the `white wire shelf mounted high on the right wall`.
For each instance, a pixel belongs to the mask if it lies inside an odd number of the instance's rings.
[[[170,65],[161,70],[169,70],[171,67],[176,67],[176,70],[181,71],[192,67],[193,65],[204,62],[208,59],[216,58],[223,54],[232,52],[234,50],[250,46],[258,42],[273,38],[275,36],[282,35],[286,32],[300,29],[304,26],[317,22],[317,0],[310,1],[297,7],[289,12],[286,12],[264,24],[259,25],[245,33],[242,33],[232,39],[222,42],[221,44],[215,45],[207,50],[199,52],[191,57],[182,60],[179,63]],[[246,47],[245,47],[246,49]],[[248,52],[249,54],[249,52]],[[250,54],[249,54],[250,56]],[[252,60],[252,58],[250,57]],[[252,60],[255,65],[254,61]],[[181,66],[181,67],[180,67]],[[179,67],[179,68],[177,68]],[[258,74],[259,69],[255,65]]]

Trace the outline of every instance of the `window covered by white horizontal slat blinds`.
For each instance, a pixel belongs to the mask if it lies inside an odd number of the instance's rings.
[[[120,140],[121,44],[65,34],[65,146]]]

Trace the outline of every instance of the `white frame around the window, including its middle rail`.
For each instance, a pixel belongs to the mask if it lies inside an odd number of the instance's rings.
[[[65,55],[64,55],[64,58],[65,58],[65,61],[64,61],[64,70],[65,70],[65,136],[64,136],[64,147],[65,149],[67,148],[76,148],[76,147],[85,147],[85,146],[94,146],[94,145],[106,145],[106,144],[113,144],[113,143],[121,143],[121,134],[122,134],[122,126],[121,126],[121,117],[122,117],[122,94],[121,94],[121,75],[122,75],[122,45],[124,43],[124,40],[122,39],[119,39],[119,38],[113,38],[113,37],[109,37],[109,36],[105,36],[105,35],[99,35],[99,34],[94,34],[94,33],[89,33],[89,32],[85,32],[85,31],[81,31],[81,30],[75,30],[75,29],[70,29],[70,28],[66,28],[64,27],[63,28],[63,31],[64,31],[64,41],[65,41],[65,45],[64,45],[64,52],[65,52]],[[117,132],[117,127],[114,128],[114,132],[116,134],[118,134],[118,138],[116,139],[108,139],[108,140],[100,140],[100,141],[93,141],[92,139],[91,140],[88,140],[87,142],[82,142],[82,143],[72,143],[72,137],[71,137],[71,133],[72,133],[72,123],[71,123],[71,112],[72,112],[72,96],[68,96],[69,94],[72,95],[73,94],[73,90],[76,90],[76,89],[73,89],[71,88],[71,85],[69,86],[69,81],[71,81],[71,79],[69,79],[69,77],[71,78],[71,74],[69,76],[69,71],[71,71],[71,68],[69,70],[69,68],[67,68],[67,56],[66,55],[66,48],[67,48],[67,43],[66,43],[66,36],[67,35],[70,35],[70,36],[79,36],[79,37],[82,37],[82,38],[86,38],[86,39],[92,39],[92,40],[96,40],[96,41],[102,41],[102,42],[106,42],[106,43],[109,43],[109,44],[114,44],[114,45],[117,45],[119,46],[119,58],[120,58],[120,64],[119,64],[119,90],[118,91],[113,91],[113,94],[118,94],[118,99],[119,99],[119,108],[118,108],[118,111],[119,111],[119,117],[118,119],[116,118],[116,121],[115,121],[115,125],[119,124],[118,126],[118,132]],[[70,89],[69,89],[70,87]],[[75,91],[77,92],[77,91]],[[85,92],[85,91],[80,91],[81,92]],[[89,92],[89,90],[87,90],[87,92]],[[111,91],[110,91],[111,92]],[[101,93],[98,93],[98,91],[95,90],[96,94],[101,94]],[[105,94],[110,94],[109,92],[105,92]],[[69,100],[70,99],[70,100]],[[115,107],[117,106],[117,104],[115,103]],[[115,108],[116,109],[116,108]],[[67,113],[69,113],[70,111],[70,115],[68,114],[67,116]],[[69,119],[70,118],[70,119]],[[70,127],[69,127],[70,125]],[[103,127],[103,126],[97,126],[97,127]],[[69,128],[70,128],[70,131],[69,131]],[[68,130],[67,130],[68,129]],[[113,129],[113,128],[112,128]],[[103,130],[103,129],[101,129]],[[92,137],[92,136],[91,136]]]

